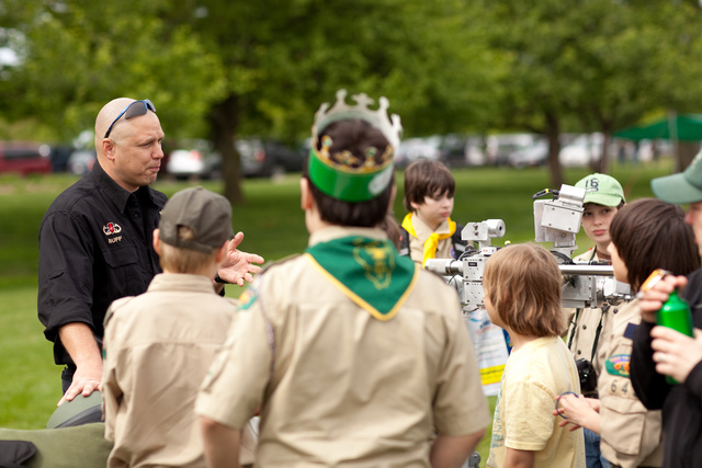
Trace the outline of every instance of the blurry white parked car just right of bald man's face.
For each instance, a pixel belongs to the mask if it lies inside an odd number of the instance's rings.
[[[165,170],[178,180],[219,179],[222,176],[222,156],[215,151],[211,141],[205,139],[184,139],[174,144],[176,149],[168,153]]]

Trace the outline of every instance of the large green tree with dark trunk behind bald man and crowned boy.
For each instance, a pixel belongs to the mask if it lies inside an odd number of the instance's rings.
[[[120,95],[150,98],[167,135],[206,132],[242,199],[237,135],[309,134],[339,88],[386,95],[407,134],[484,128],[501,60],[461,0],[5,0],[24,39],[0,85],[13,116],[65,136]],[[22,96],[22,102],[16,96]]]

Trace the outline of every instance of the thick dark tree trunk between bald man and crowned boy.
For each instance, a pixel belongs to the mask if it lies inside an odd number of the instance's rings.
[[[222,155],[222,179],[224,181],[223,195],[233,204],[244,204],[241,192],[241,158],[234,145],[236,130],[239,127],[238,98],[228,96],[215,104],[210,111],[208,121],[212,141]]]

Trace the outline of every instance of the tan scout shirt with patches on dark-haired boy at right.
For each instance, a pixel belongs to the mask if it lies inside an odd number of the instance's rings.
[[[659,467],[663,461],[660,411],[646,410],[629,375],[634,326],[639,323],[634,300],[614,316],[609,345],[600,356],[600,449],[608,461],[624,468]]]

